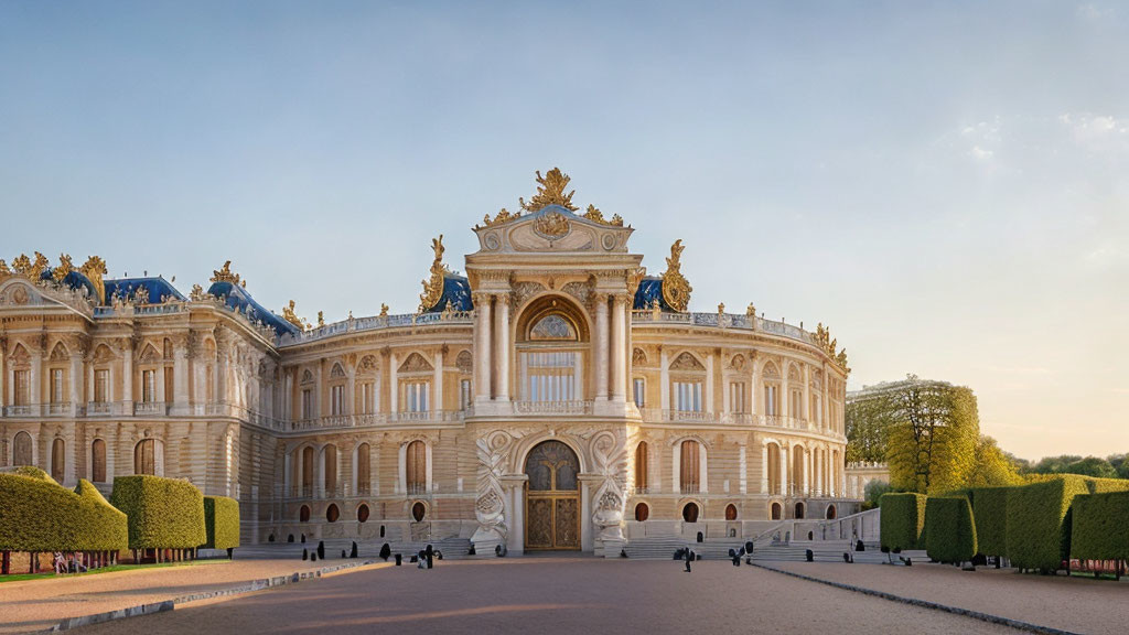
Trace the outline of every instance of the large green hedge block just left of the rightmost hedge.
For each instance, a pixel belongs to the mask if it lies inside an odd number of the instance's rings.
[[[1086,477],[1059,478],[1009,488],[1007,493],[1007,557],[1019,568],[1057,571],[1069,555],[1070,504],[1089,493]]]

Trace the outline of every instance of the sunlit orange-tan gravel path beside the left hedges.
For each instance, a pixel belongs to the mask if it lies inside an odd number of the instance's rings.
[[[230,589],[253,580],[341,562],[204,560],[192,566],[5,582],[0,584],[0,633],[40,630],[69,617],[160,602],[201,591]]]

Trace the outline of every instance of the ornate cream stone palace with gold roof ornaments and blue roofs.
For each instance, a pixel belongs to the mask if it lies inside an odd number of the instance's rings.
[[[852,511],[826,330],[688,312],[681,241],[647,276],[619,216],[537,181],[474,227],[465,276],[434,242],[409,315],[280,318],[230,263],[185,297],[97,258],[0,261],[0,467],[186,478],[239,501],[246,542],[618,554]]]

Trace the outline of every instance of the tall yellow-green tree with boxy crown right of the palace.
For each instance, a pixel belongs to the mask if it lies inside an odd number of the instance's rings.
[[[893,420],[886,437],[891,485],[922,494],[963,487],[980,436],[972,391],[909,375],[876,399]]]

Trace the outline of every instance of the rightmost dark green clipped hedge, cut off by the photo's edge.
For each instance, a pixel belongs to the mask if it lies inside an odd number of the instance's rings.
[[[1129,492],[1076,496],[1071,520],[1071,557],[1129,560]]]

